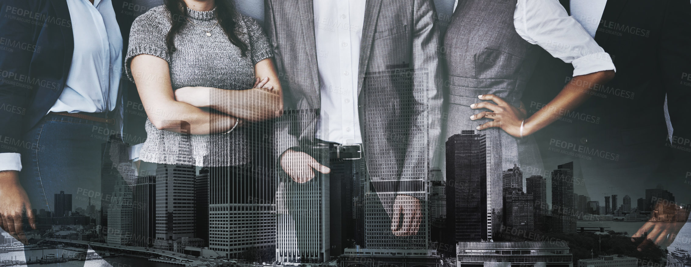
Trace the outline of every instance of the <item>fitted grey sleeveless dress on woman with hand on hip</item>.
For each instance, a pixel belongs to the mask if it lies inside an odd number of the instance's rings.
[[[483,101],[478,95],[494,94],[520,106],[540,48],[516,32],[515,6],[516,0],[459,1],[444,39],[450,83],[446,139],[491,121],[471,121],[471,115],[482,112],[470,108]],[[526,175],[542,173],[540,152],[532,137],[519,139],[500,128],[475,132],[486,135],[487,179],[493,185],[489,195],[498,200],[493,201],[491,210],[500,211],[502,170],[518,164]],[[500,222],[493,220],[496,229]]]

